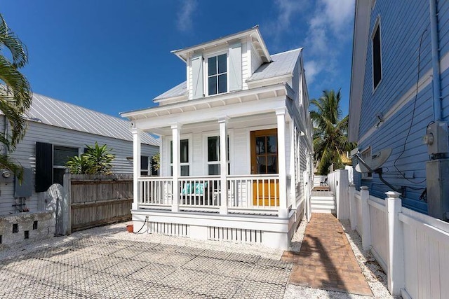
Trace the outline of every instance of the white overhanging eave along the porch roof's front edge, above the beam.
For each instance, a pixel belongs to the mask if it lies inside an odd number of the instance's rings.
[[[232,104],[234,104],[236,100],[239,100],[239,102],[243,102],[244,98],[246,97],[254,97],[254,99],[260,99],[260,95],[267,95],[267,93],[270,93],[272,97],[282,96],[290,100],[293,100],[295,97],[295,92],[292,88],[290,88],[288,84],[279,83],[276,85],[263,86],[260,88],[253,88],[249,90],[241,90],[238,92],[228,92],[212,97],[192,99],[182,103],[167,104],[148,109],[123,112],[120,113],[120,115],[124,118],[128,118],[129,120],[138,120],[141,118],[151,118],[173,113],[182,113],[184,111],[198,110],[200,106],[211,107],[214,106],[214,104],[226,106],[231,102]]]

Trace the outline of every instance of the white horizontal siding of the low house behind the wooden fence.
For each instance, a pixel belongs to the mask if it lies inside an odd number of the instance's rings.
[[[3,118],[0,118],[0,123],[3,125]],[[133,173],[133,162],[126,157],[133,156],[133,142],[111,137],[102,137],[99,135],[88,134],[85,132],[76,132],[73,130],[64,129],[61,127],[53,127],[42,123],[29,122],[27,134],[25,138],[18,144],[16,151],[11,154],[22,167],[31,168],[33,173],[36,165],[36,141],[45,142],[57,146],[69,146],[79,148],[83,153],[83,148],[86,144],[93,145],[95,141],[98,144],[107,144],[112,148],[112,152],[116,155],[114,162],[112,162],[112,171],[115,173]],[[159,151],[156,146],[142,145],[142,155],[152,157]],[[34,186],[34,176],[32,176],[32,186]],[[14,198],[14,183],[0,184],[0,214],[9,214],[15,212]],[[32,197],[27,199],[27,207],[30,211],[37,211],[37,194],[33,193]]]

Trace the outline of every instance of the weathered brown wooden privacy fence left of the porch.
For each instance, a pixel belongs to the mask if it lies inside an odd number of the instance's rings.
[[[132,174],[64,174],[64,189],[67,233],[131,219]]]

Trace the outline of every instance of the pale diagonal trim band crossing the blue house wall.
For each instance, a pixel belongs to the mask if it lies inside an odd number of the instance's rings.
[[[446,53],[444,57],[440,60],[440,74],[443,74],[443,72],[446,71],[447,69],[449,69],[449,53]],[[418,82],[418,92],[426,88],[427,85],[429,85],[432,82],[433,77],[432,74],[433,70],[430,69],[429,71],[427,71],[426,74],[424,74],[424,76],[422,76],[422,78],[420,78],[420,81]],[[406,106],[408,102],[414,99],[415,94],[416,94],[416,85],[413,85],[413,88],[410,88],[407,92],[405,92],[402,95],[402,97],[396,102],[396,104],[394,104],[394,106],[392,106],[391,109],[389,109],[389,111],[387,111],[387,113],[384,114],[384,121],[380,123],[379,127],[382,127],[382,125],[384,125],[384,123],[386,123],[387,120],[392,118],[399,110],[403,108],[403,106]],[[377,128],[378,127],[371,127],[370,130],[368,130],[368,132],[363,134],[363,136],[360,139],[358,139],[358,144],[361,144],[363,141],[368,139],[368,137],[370,137],[371,134],[373,134],[377,130]]]

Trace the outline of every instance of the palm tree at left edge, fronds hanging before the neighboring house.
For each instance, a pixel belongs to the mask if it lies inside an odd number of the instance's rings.
[[[0,14],[0,111],[4,113],[5,125],[9,123],[11,128],[0,133],[0,143],[4,144],[4,151],[0,154],[0,167],[10,169],[20,180],[22,167],[15,164],[8,153],[15,150],[27,130],[27,120],[23,115],[31,105],[32,91],[27,78],[19,71],[27,62],[27,48],[9,29]]]

